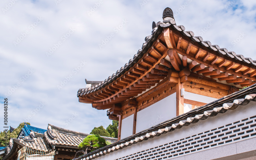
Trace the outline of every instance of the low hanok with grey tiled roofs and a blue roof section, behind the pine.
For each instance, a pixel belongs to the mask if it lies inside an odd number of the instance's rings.
[[[79,150],[78,145],[89,134],[75,132],[48,124],[47,130],[26,124],[17,138],[9,141],[4,160],[70,160]],[[117,139],[103,137],[114,143]],[[1,149],[1,148],[0,148]]]

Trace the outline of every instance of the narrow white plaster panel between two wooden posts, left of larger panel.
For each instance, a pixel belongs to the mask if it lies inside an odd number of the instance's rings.
[[[133,130],[133,114],[122,120],[121,139],[132,135]]]

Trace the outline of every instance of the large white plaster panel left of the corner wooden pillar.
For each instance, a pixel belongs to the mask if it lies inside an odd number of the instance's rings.
[[[136,133],[176,116],[176,93],[137,112]]]

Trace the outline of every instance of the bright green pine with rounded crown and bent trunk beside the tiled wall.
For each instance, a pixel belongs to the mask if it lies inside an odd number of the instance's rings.
[[[83,142],[78,145],[78,148],[81,151],[78,151],[75,155],[76,156],[79,153],[87,154],[88,149],[91,151],[97,150],[101,147],[106,146],[106,140],[99,135],[88,135],[86,138],[84,138]]]

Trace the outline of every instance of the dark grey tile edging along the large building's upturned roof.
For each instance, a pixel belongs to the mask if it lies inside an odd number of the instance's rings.
[[[133,67],[134,63],[137,63],[138,60],[142,58],[144,54],[146,54],[148,49],[151,48],[153,42],[157,40],[158,35],[162,33],[163,28],[166,27],[172,27],[174,30],[179,31],[183,36],[188,37],[191,41],[198,42],[199,45],[207,47],[208,49],[214,51],[218,56],[225,56],[232,58],[233,60],[239,60],[250,65],[253,68],[255,68],[256,66],[256,60],[253,60],[252,58],[245,58],[243,55],[237,55],[235,52],[228,51],[228,49],[226,48],[220,48],[218,45],[212,45],[210,41],[204,41],[201,36],[194,36],[194,32],[185,31],[185,27],[183,25],[177,26],[174,20],[169,20],[166,23],[157,22],[156,24],[155,22],[153,22],[152,34],[145,37],[145,43],[143,43],[142,48],[138,50],[137,54],[134,55],[133,59],[130,59],[129,62],[124,65],[124,67],[121,67],[119,70],[116,71],[116,73],[113,73],[112,76],[109,76],[104,81],[91,81],[93,83],[93,86],[79,89],[77,92],[77,97],[84,96],[86,94],[95,92],[108,86],[108,84],[112,83],[114,80],[116,80],[126,71],[128,71],[131,67]]]

